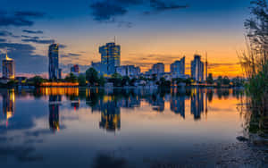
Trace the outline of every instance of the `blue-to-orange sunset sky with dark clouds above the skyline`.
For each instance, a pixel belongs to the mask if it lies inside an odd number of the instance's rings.
[[[100,61],[98,46],[121,45],[121,64],[147,71],[207,52],[214,76],[241,75],[250,0],[1,0],[0,50],[17,74],[46,74],[49,44],[59,43],[63,72]],[[2,71],[2,70],[1,70]]]

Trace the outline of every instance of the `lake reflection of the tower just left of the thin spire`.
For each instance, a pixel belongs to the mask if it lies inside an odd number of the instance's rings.
[[[201,119],[201,113],[204,113],[204,90],[194,88],[191,94],[191,113],[195,120]]]

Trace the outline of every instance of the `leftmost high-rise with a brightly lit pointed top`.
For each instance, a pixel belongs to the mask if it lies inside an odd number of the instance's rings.
[[[9,58],[7,54],[5,55],[5,58],[2,62],[2,72],[4,79],[15,79],[15,63],[14,60],[12,58]]]

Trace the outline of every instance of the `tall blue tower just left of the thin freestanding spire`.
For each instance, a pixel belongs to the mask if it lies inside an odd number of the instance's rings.
[[[201,62],[201,56],[195,55],[191,62],[191,77],[196,81],[204,81],[204,63]]]

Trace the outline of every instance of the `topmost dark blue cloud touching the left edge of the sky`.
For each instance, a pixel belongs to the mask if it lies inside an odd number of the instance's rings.
[[[32,26],[34,24],[33,19],[43,18],[45,13],[39,12],[15,12],[6,13],[0,11],[0,27],[1,26]]]

